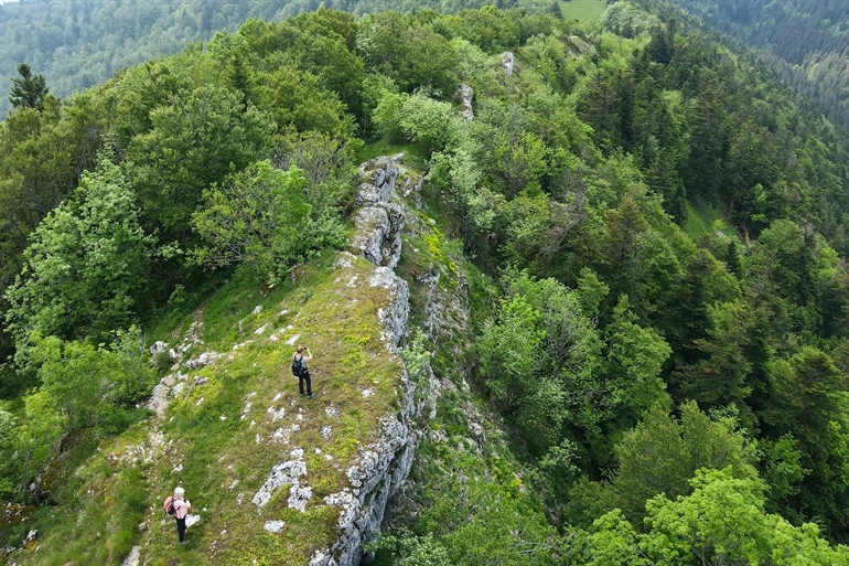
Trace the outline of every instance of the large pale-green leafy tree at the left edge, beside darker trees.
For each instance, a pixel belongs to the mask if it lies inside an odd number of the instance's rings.
[[[21,275],[6,292],[7,329],[19,355],[25,355],[33,332],[103,339],[127,328],[151,263],[173,253],[144,233],[123,174],[101,160],[83,177],[75,197],[39,225]]]

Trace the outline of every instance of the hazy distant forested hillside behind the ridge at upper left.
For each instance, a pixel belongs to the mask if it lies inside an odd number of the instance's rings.
[[[533,3],[533,2],[531,2]],[[110,78],[136,65],[181,51],[186,43],[207,41],[217,30],[235,31],[248,18],[275,21],[319,8],[356,14],[430,7],[442,12],[480,8],[483,1],[415,0],[21,0],[0,4],[0,82],[26,62],[43,74],[53,93],[66,96]],[[390,6],[391,4],[391,6]],[[502,8],[512,0],[498,2]],[[9,105],[0,100],[0,116]]]

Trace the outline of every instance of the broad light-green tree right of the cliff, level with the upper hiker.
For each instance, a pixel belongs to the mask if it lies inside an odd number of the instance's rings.
[[[565,439],[598,440],[613,403],[601,374],[602,343],[578,295],[526,271],[505,282],[507,298],[480,341],[487,388],[537,457],[560,450]]]

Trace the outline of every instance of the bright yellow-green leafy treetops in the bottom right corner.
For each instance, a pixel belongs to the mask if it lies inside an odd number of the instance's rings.
[[[831,547],[817,526],[793,526],[764,512],[763,484],[727,470],[699,470],[692,493],[646,504],[646,533],[619,510],[597,521],[579,564],[847,564],[849,551]]]

